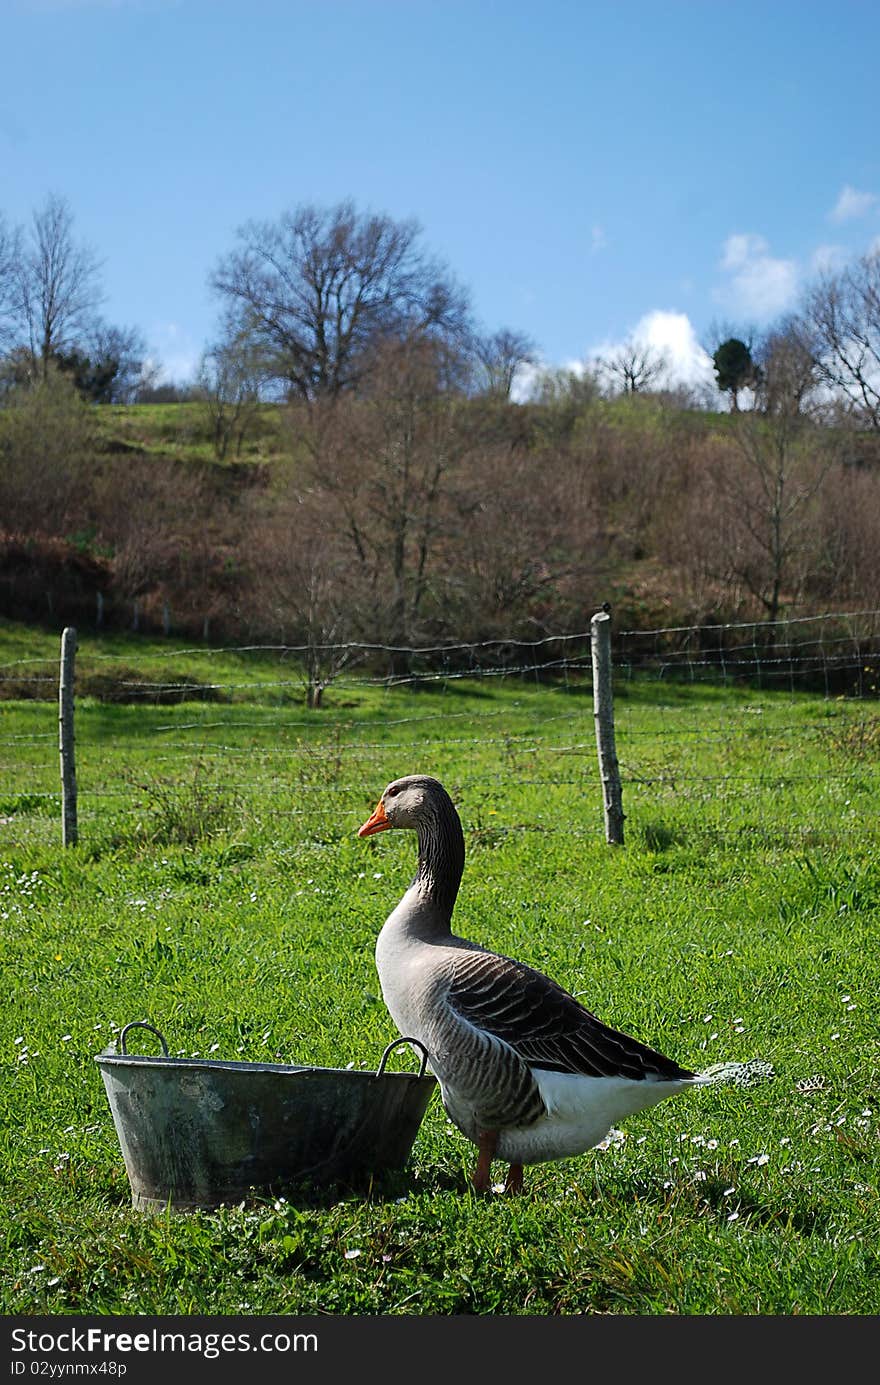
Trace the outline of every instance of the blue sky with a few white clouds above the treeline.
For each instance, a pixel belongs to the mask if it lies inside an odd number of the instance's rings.
[[[173,378],[251,217],[414,217],[547,364],[679,374],[880,244],[877,0],[0,0],[0,211],[64,195]]]

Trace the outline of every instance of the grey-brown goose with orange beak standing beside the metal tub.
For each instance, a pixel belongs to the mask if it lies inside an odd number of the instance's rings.
[[[389,828],[417,834],[419,867],[376,942],[382,1000],[401,1036],[427,1050],[449,1119],[477,1145],[477,1192],[492,1187],[493,1159],[509,1165],[504,1191],[518,1194],[525,1165],[583,1154],[665,1097],[772,1075],[762,1060],[693,1072],[608,1028],[540,971],[453,933],[464,834],[439,780],[392,780],[358,835]]]

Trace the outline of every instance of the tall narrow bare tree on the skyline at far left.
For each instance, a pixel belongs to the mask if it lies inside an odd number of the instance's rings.
[[[19,312],[43,378],[53,356],[91,324],[101,302],[98,270],[93,251],[73,238],[67,201],[50,194],[33,213],[18,267]]]

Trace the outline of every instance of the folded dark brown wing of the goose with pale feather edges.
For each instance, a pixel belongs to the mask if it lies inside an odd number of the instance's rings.
[[[635,1082],[694,1076],[610,1029],[549,976],[498,953],[461,953],[446,1000],[466,1024],[509,1044],[531,1068]]]

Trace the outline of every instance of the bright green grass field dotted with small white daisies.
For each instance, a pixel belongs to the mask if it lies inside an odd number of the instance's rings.
[[[615,849],[577,677],[349,679],[306,712],[270,656],[85,640],[83,680],[222,699],[80,695],[62,850],[57,644],[0,627],[0,676],[30,680],[0,701],[3,1313],[880,1312],[876,702],[622,684]],[[757,1055],[773,1080],[633,1116],[518,1199],[468,1191],[434,1097],[371,1187],[134,1212],[94,1064],[127,1021],[176,1054],[327,1066],[394,1037],[373,946],[416,843],[356,828],[414,770],[461,813],[460,932],[685,1064]]]

